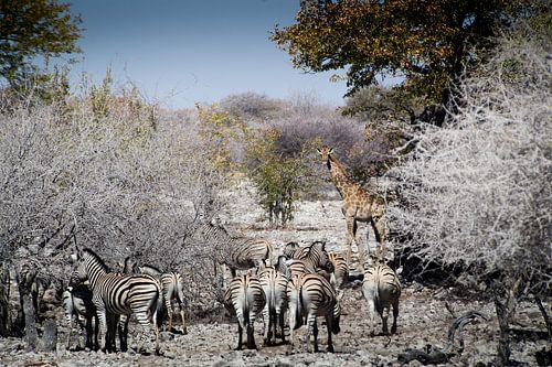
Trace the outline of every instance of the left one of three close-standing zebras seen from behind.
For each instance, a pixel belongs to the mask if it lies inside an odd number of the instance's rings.
[[[224,306],[232,315],[237,316],[237,347],[243,345],[243,330],[247,333],[247,348],[256,349],[254,324],[256,316],[266,304],[265,292],[261,281],[254,274],[235,277],[224,292]]]

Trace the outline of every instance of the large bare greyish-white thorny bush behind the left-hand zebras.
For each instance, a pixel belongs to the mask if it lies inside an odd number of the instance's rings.
[[[220,292],[213,249],[191,234],[222,205],[222,176],[205,162],[197,119],[167,112],[152,123],[149,110],[127,107],[100,118],[86,99],[73,100],[63,116],[55,105],[30,100],[2,109],[0,258],[59,289],[75,245],[97,251],[114,271],[134,256],[162,270],[201,273],[190,294],[206,296],[211,307]]]

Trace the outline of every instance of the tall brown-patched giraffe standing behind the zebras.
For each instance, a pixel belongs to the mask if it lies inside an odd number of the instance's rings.
[[[383,220],[385,203],[380,195],[368,193],[359,183],[347,175],[343,165],[333,155],[333,148],[322,147],[321,150],[318,149],[318,153],[327,164],[328,170],[330,170],[331,181],[343,199],[341,212],[347,222],[347,263],[350,267],[351,245],[354,240],[359,249],[359,265],[362,267],[364,265],[365,249],[361,248],[362,241],[357,237],[358,223],[370,223],[374,230],[375,240],[382,246],[385,240]]]

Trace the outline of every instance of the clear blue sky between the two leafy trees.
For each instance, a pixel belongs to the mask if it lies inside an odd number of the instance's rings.
[[[238,93],[273,98],[309,95],[343,105],[344,82],[307,74],[268,37],[289,25],[299,0],[73,0],[85,29],[76,80],[94,83],[108,66],[116,86],[134,83],[151,101],[171,108],[214,102]],[[342,74],[342,73],[341,73]]]

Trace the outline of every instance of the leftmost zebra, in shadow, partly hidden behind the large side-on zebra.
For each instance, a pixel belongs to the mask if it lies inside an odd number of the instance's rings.
[[[71,346],[71,333],[73,331],[74,320],[76,320],[76,322],[81,326],[81,330],[83,328],[83,326],[86,328],[85,346],[89,349],[97,348],[98,346],[98,316],[96,314],[96,306],[94,305],[92,298],[92,291],[85,284],[77,284],[75,287],[70,285],[63,292],[63,309],[65,311],[65,317],[70,326],[67,335],[67,350]],[[81,317],[85,319],[85,325],[82,325]]]

